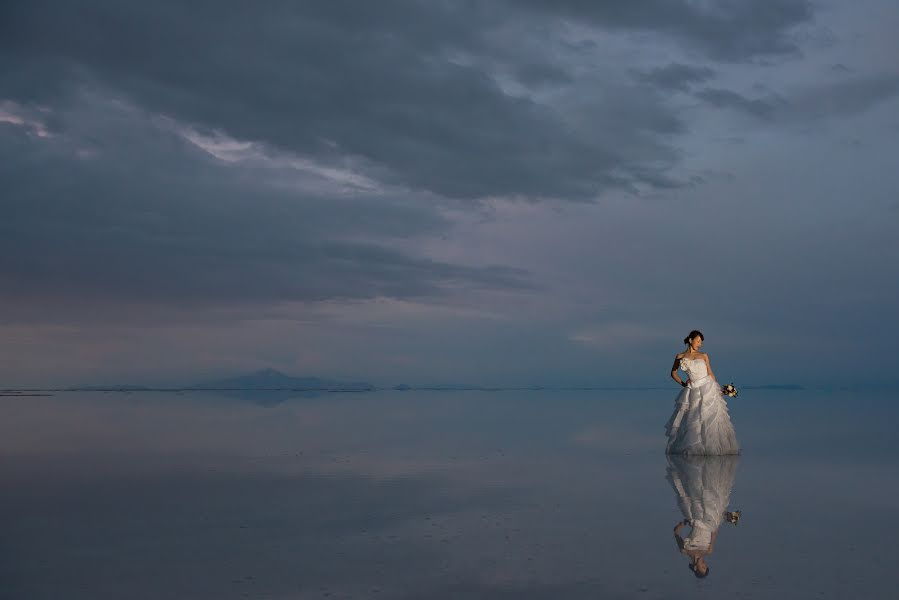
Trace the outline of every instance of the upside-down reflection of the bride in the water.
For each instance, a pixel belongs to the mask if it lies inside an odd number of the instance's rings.
[[[684,515],[674,527],[674,537],[681,553],[690,557],[690,570],[697,577],[709,574],[705,557],[714,549],[721,521],[739,516],[727,512],[738,461],[738,456],[668,456],[667,479]],[[683,537],[685,525],[690,534]]]

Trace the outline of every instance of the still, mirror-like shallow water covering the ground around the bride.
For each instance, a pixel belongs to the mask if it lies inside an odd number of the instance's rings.
[[[676,388],[0,397],[0,598],[889,598],[896,397],[748,390],[697,579]]]

